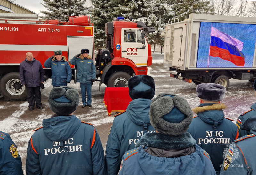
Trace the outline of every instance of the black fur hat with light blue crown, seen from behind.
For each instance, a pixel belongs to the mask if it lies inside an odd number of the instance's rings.
[[[129,95],[137,98],[152,99],[155,95],[155,81],[149,75],[136,75],[128,80]]]

